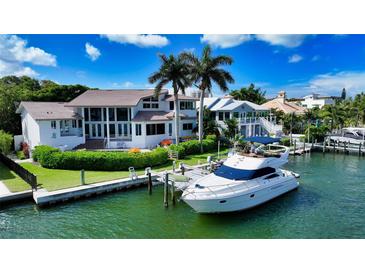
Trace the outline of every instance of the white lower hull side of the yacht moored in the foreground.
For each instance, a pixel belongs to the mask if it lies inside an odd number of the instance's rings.
[[[242,195],[222,197],[219,199],[194,199],[183,198],[183,200],[198,213],[221,213],[246,210],[267,201],[270,201],[282,194],[296,189],[299,182],[295,177],[285,182],[261,188],[256,191],[246,192]]]

